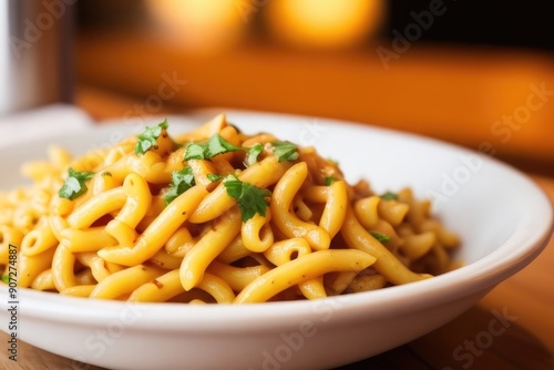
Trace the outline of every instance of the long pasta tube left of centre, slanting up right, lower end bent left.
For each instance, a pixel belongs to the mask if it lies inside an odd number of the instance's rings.
[[[98,251],[106,261],[134,266],[151,258],[183,225],[207,194],[203,186],[193,186],[176,197],[138,237],[133,247],[107,247]]]

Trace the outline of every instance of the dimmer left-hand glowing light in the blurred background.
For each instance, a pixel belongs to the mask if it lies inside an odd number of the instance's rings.
[[[147,0],[147,7],[164,39],[191,51],[226,49],[246,33],[236,0]]]

